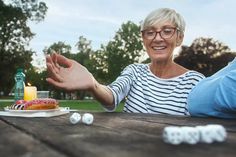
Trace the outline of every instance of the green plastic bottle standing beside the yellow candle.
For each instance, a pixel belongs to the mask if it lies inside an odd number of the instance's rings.
[[[23,69],[17,69],[15,74],[15,101],[24,99],[25,74]]]

